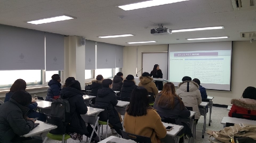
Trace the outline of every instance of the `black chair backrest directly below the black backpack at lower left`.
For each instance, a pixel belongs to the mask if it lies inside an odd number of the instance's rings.
[[[51,133],[51,134],[65,134],[66,133],[67,124],[64,124],[61,121],[60,117],[46,115],[46,120],[47,120],[47,123],[57,126],[56,129],[52,129],[49,133]]]

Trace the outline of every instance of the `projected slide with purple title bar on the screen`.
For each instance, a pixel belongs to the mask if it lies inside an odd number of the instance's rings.
[[[230,90],[231,49],[169,52],[169,81],[198,78],[207,89]]]

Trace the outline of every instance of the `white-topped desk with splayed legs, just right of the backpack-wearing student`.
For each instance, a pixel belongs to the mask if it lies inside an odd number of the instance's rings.
[[[90,139],[89,139],[89,142],[88,142],[88,143],[90,143],[90,141],[93,138],[93,133],[96,129],[96,126],[97,126],[97,129],[98,129],[99,140],[101,140],[100,135],[99,135],[99,123],[98,123],[99,117],[98,117],[98,115],[99,115],[100,112],[104,111],[104,109],[93,108],[93,107],[87,107],[87,109],[88,109],[87,113],[86,114],[81,114],[81,117],[84,120],[84,122],[94,125],[93,126],[93,132],[92,132],[92,134],[90,136]]]

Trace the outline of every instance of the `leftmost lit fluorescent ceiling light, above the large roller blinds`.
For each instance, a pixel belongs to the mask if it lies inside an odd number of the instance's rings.
[[[55,22],[55,21],[70,20],[70,19],[74,19],[74,18],[70,17],[70,16],[62,15],[62,16],[58,16],[58,17],[50,17],[50,18],[45,18],[45,19],[41,19],[41,20],[29,21],[27,23],[42,24],[42,23],[51,23],[51,22]]]

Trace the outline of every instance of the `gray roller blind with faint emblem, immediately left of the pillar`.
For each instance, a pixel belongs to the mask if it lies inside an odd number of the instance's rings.
[[[64,71],[64,35],[45,34],[46,71]]]

